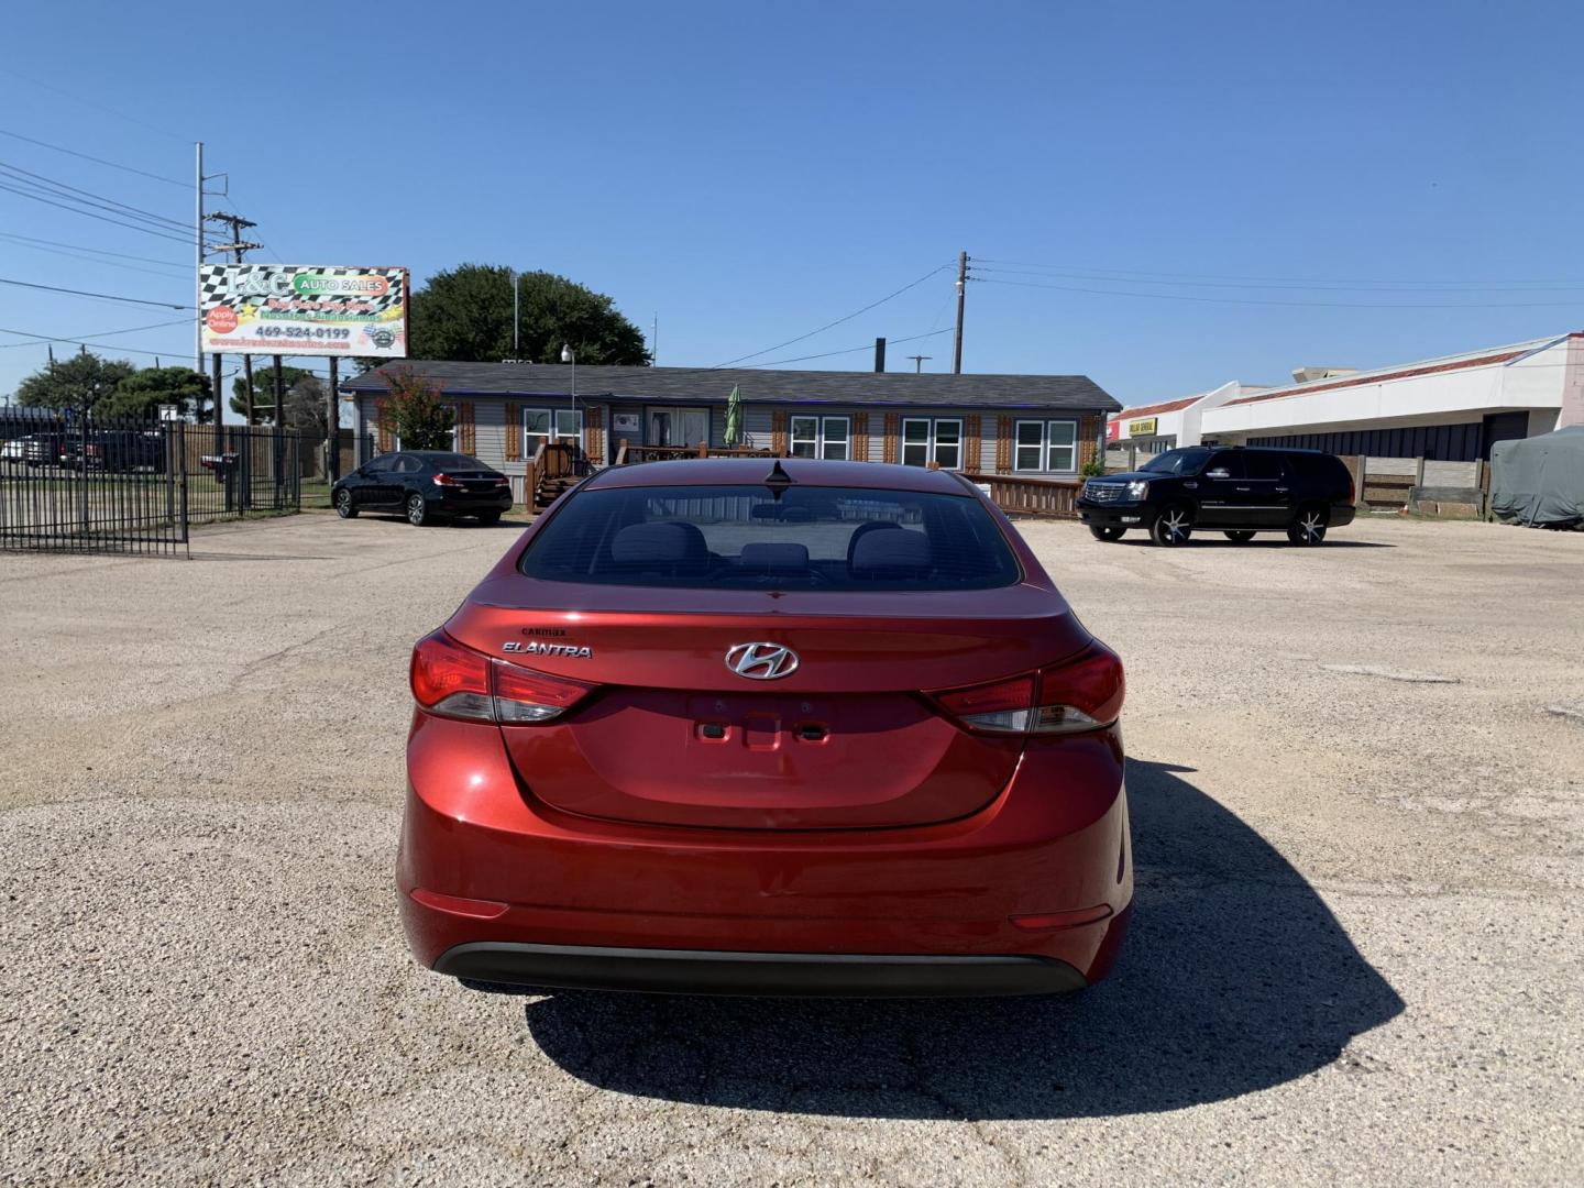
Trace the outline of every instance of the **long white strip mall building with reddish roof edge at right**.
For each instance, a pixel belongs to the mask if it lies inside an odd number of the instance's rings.
[[[1338,455],[1489,459],[1495,442],[1584,425],[1584,333],[1419,363],[1351,371],[1299,367],[1294,383],[1224,383],[1123,409],[1114,448],[1286,445]]]

